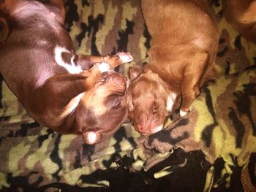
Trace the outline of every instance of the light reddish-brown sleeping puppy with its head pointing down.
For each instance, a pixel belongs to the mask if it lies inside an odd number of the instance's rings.
[[[180,115],[212,73],[217,53],[217,23],[203,1],[142,0],[151,34],[149,63],[129,69],[129,119],[140,134],[161,130],[181,96]],[[179,107],[178,107],[179,108]]]

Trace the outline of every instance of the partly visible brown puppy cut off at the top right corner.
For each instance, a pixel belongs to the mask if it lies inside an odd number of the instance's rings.
[[[223,0],[222,12],[242,36],[256,43],[255,0]]]

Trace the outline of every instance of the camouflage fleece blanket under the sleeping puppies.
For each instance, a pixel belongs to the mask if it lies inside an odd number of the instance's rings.
[[[188,115],[149,137],[126,123],[113,137],[84,145],[80,136],[34,122],[0,79],[0,191],[255,191],[256,45],[222,18],[220,3],[213,4],[222,31],[219,77],[202,88]],[[129,51],[135,60],[120,66],[123,74],[147,60],[140,1],[65,5],[77,53]]]

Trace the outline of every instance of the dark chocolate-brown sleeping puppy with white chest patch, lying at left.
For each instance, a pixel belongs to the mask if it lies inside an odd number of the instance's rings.
[[[127,117],[127,78],[112,69],[132,56],[75,55],[63,1],[1,0],[0,7],[0,72],[29,115],[88,144],[115,131]]]

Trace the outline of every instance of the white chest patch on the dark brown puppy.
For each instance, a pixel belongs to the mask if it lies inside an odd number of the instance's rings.
[[[70,52],[64,47],[56,46],[54,48],[54,58],[55,58],[56,64],[58,64],[59,66],[62,66],[70,74],[78,74],[80,72],[83,72],[80,66],[75,65],[75,62],[74,62],[75,55],[72,56],[72,58],[70,59],[70,63],[68,64],[63,60],[62,53],[70,53]]]

